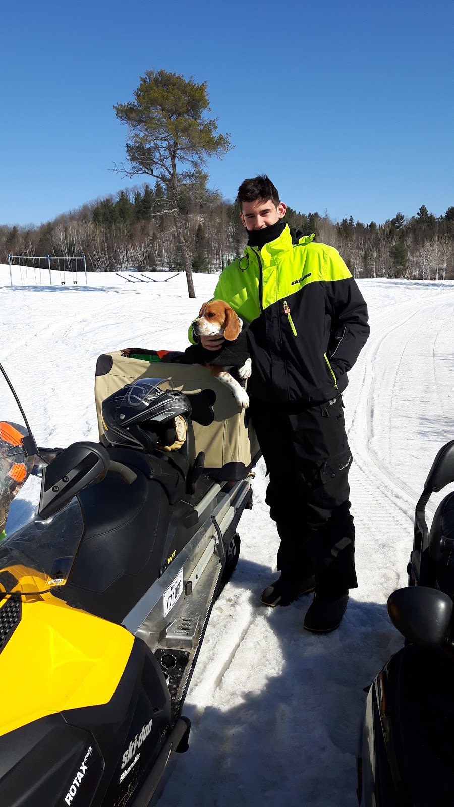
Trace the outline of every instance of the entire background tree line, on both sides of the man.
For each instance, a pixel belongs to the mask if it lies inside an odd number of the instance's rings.
[[[196,189],[191,186],[180,195],[179,213],[192,271],[220,272],[242,255],[246,233],[237,203],[209,190],[206,182],[207,175],[201,175]],[[0,226],[0,263],[7,263],[9,254],[85,255],[87,270],[95,272],[184,270],[168,207],[165,189],[156,182],[120,190],[37,227]],[[336,223],[326,214],[288,207],[285,220],[336,247],[356,278],[454,279],[454,207],[436,217],[421,205],[410,218],[397,212],[384,224],[363,224],[352,216]],[[37,266],[37,261],[28,265]],[[71,261],[65,261],[65,268],[71,268]]]

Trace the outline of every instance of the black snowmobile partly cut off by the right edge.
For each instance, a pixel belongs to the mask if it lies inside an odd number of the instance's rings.
[[[359,760],[363,807],[454,804],[454,492],[427,528],[431,493],[454,482],[454,441],[439,450],[414,516],[409,587],[389,597],[405,637],[368,692]]]

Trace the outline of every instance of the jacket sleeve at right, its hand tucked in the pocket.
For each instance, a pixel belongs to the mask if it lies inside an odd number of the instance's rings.
[[[368,307],[337,249],[330,249],[330,261],[333,279],[326,284],[331,312],[327,354],[342,392],[347,387],[347,372],[368,340]],[[334,279],[336,275],[342,279]]]

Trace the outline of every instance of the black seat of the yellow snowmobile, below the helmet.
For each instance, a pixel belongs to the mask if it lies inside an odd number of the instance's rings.
[[[178,489],[176,475],[181,479],[174,470],[169,495],[170,481],[167,487],[158,481],[153,458],[139,459],[140,454],[128,449],[124,453],[137,456],[133,466],[137,478],[127,484],[119,474],[109,472],[102,482],[78,495],[86,530],[68,581],[56,590],[69,604],[118,624],[160,574],[170,498]],[[169,466],[169,480],[171,474]]]

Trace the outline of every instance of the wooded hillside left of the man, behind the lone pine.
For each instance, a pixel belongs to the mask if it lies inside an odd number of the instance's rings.
[[[156,182],[154,187],[145,184],[120,190],[116,196],[86,203],[37,227],[0,225],[0,263],[7,263],[9,254],[85,255],[87,270],[95,272],[184,270],[168,207],[162,184]],[[246,241],[236,205],[209,190],[206,176],[199,178],[196,189],[191,186],[191,192],[180,194],[179,214],[193,271],[218,272],[242,252]],[[65,266],[69,268],[70,263]]]

